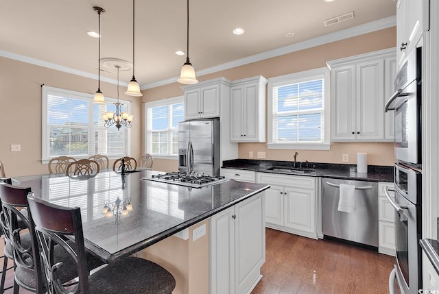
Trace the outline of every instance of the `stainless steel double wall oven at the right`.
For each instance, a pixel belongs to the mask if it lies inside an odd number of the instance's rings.
[[[395,93],[385,103],[394,110],[394,191],[390,204],[395,208],[396,275],[405,294],[422,289],[421,249],[421,48],[407,56],[396,75]],[[392,276],[391,274],[391,276]],[[392,293],[392,291],[390,291]]]

